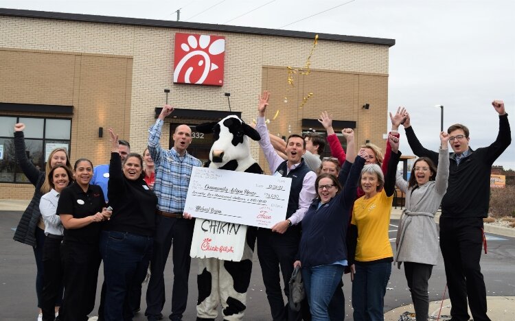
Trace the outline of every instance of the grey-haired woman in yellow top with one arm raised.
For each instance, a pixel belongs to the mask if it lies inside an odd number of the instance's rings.
[[[354,320],[384,320],[383,298],[391,273],[393,251],[388,237],[391,202],[399,163],[399,139],[389,135],[391,157],[386,177],[378,165],[365,165],[360,185],[365,192],[354,203],[349,230]]]

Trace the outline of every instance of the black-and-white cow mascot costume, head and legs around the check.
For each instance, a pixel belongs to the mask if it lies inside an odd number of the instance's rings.
[[[263,174],[260,165],[251,156],[249,144],[249,138],[259,141],[260,134],[240,118],[231,115],[218,123],[203,123],[196,126],[196,131],[214,134],[214,143],[205,167]],[[205,220],[196,219],[194,230],[200,230],[203,223]],[[212,257],[198,259],[197,320],[215,320],[220,304],[224,320],[243,319],[257,231],[253,226],[239,226],[242,233],[245,228],[247,234],[241,238],[244,250],[239,261],[238,258],[233,261]]]

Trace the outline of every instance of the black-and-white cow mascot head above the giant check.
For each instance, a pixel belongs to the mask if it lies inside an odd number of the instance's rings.
[[[249,143],[249,138],[259,141],[261,136],[238,116],[227,116],[218,123],[203,123],[196,126],[196,130],[213,133],[214,143],[206,167],[262,174],[261,167],[251,156]]]

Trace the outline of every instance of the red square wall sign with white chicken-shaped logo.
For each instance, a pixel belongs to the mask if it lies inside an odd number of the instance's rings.
[[[175,34],[174,82],[222,86],[225,37]]]

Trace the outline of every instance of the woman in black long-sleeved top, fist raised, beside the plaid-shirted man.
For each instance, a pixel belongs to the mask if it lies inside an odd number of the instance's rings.
[[[118,154],[118,136],[110,128],[111,163],[108,198],[113,216],[106,222],[100,237],[104,260],[106,296],[104,320],[133,320],[133,307],[141,296],[141,282],[152,256],[157,196],[146,184],[143,158],[130,153],[124,160]],[[137,298],[139,299],[139,298]]]

